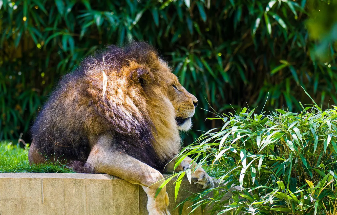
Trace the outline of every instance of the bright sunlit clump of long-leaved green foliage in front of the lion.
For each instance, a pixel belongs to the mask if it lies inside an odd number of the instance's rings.
[[[222,184],[186,201],[192,208],[212,204],[213,214],[336,214],[337,107],[302,110],[258,114],[244,108],[210,119],[223,126],[180,156],[194,155]],[[224,201],[228,193],[233,196]]]

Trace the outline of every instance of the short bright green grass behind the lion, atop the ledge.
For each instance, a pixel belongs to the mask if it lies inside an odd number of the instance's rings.
[[[0,173],[74,173],[58,161],[29,165],[28,149],[9,141],[0,142]]]

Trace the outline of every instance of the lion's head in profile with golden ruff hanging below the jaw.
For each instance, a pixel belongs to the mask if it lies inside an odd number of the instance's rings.
[[[146,99],[140,104],[137,104],[136,98],[132,101],[137,108],[146,109],[154,126],[154,148],[159,157],[172,157],[181,149],[179,130],[187,131],[192,126],[191,117],[198,100],[179,83],[167,62],[153,48],[147,46],[142,49],[145,51],[141,56],[139,47],[135,50],[137,52],[132,53],[137,56],[128,61],[122,70],[124,76],[132,80],[129,89],[135,89],[132,92],[140,92]]]

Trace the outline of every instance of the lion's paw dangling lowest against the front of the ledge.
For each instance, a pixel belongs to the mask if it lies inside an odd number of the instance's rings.
[[[170,200],[168,199],[167,192],[164,195],[160,193],[156,198],[149,197],[147,204],[149,215],[170,215],[170,212],[167,210],[169,204]]]

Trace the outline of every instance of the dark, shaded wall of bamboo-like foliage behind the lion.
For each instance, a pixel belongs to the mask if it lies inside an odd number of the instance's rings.
[[[300,85],[323,108],[337,104],[331,2],[0,0],[0,140],[23,133],[29,143],[32,120],[60,77],[95,50],[130,39],[153,44],[206,110],[261,111],[266,103],[264,111],[296,112],[298,101],[311,103]],[[212,115],[197,109],[193,129],[218,126],[205,122]],[[200,134],[184,134],[185,144]]]

